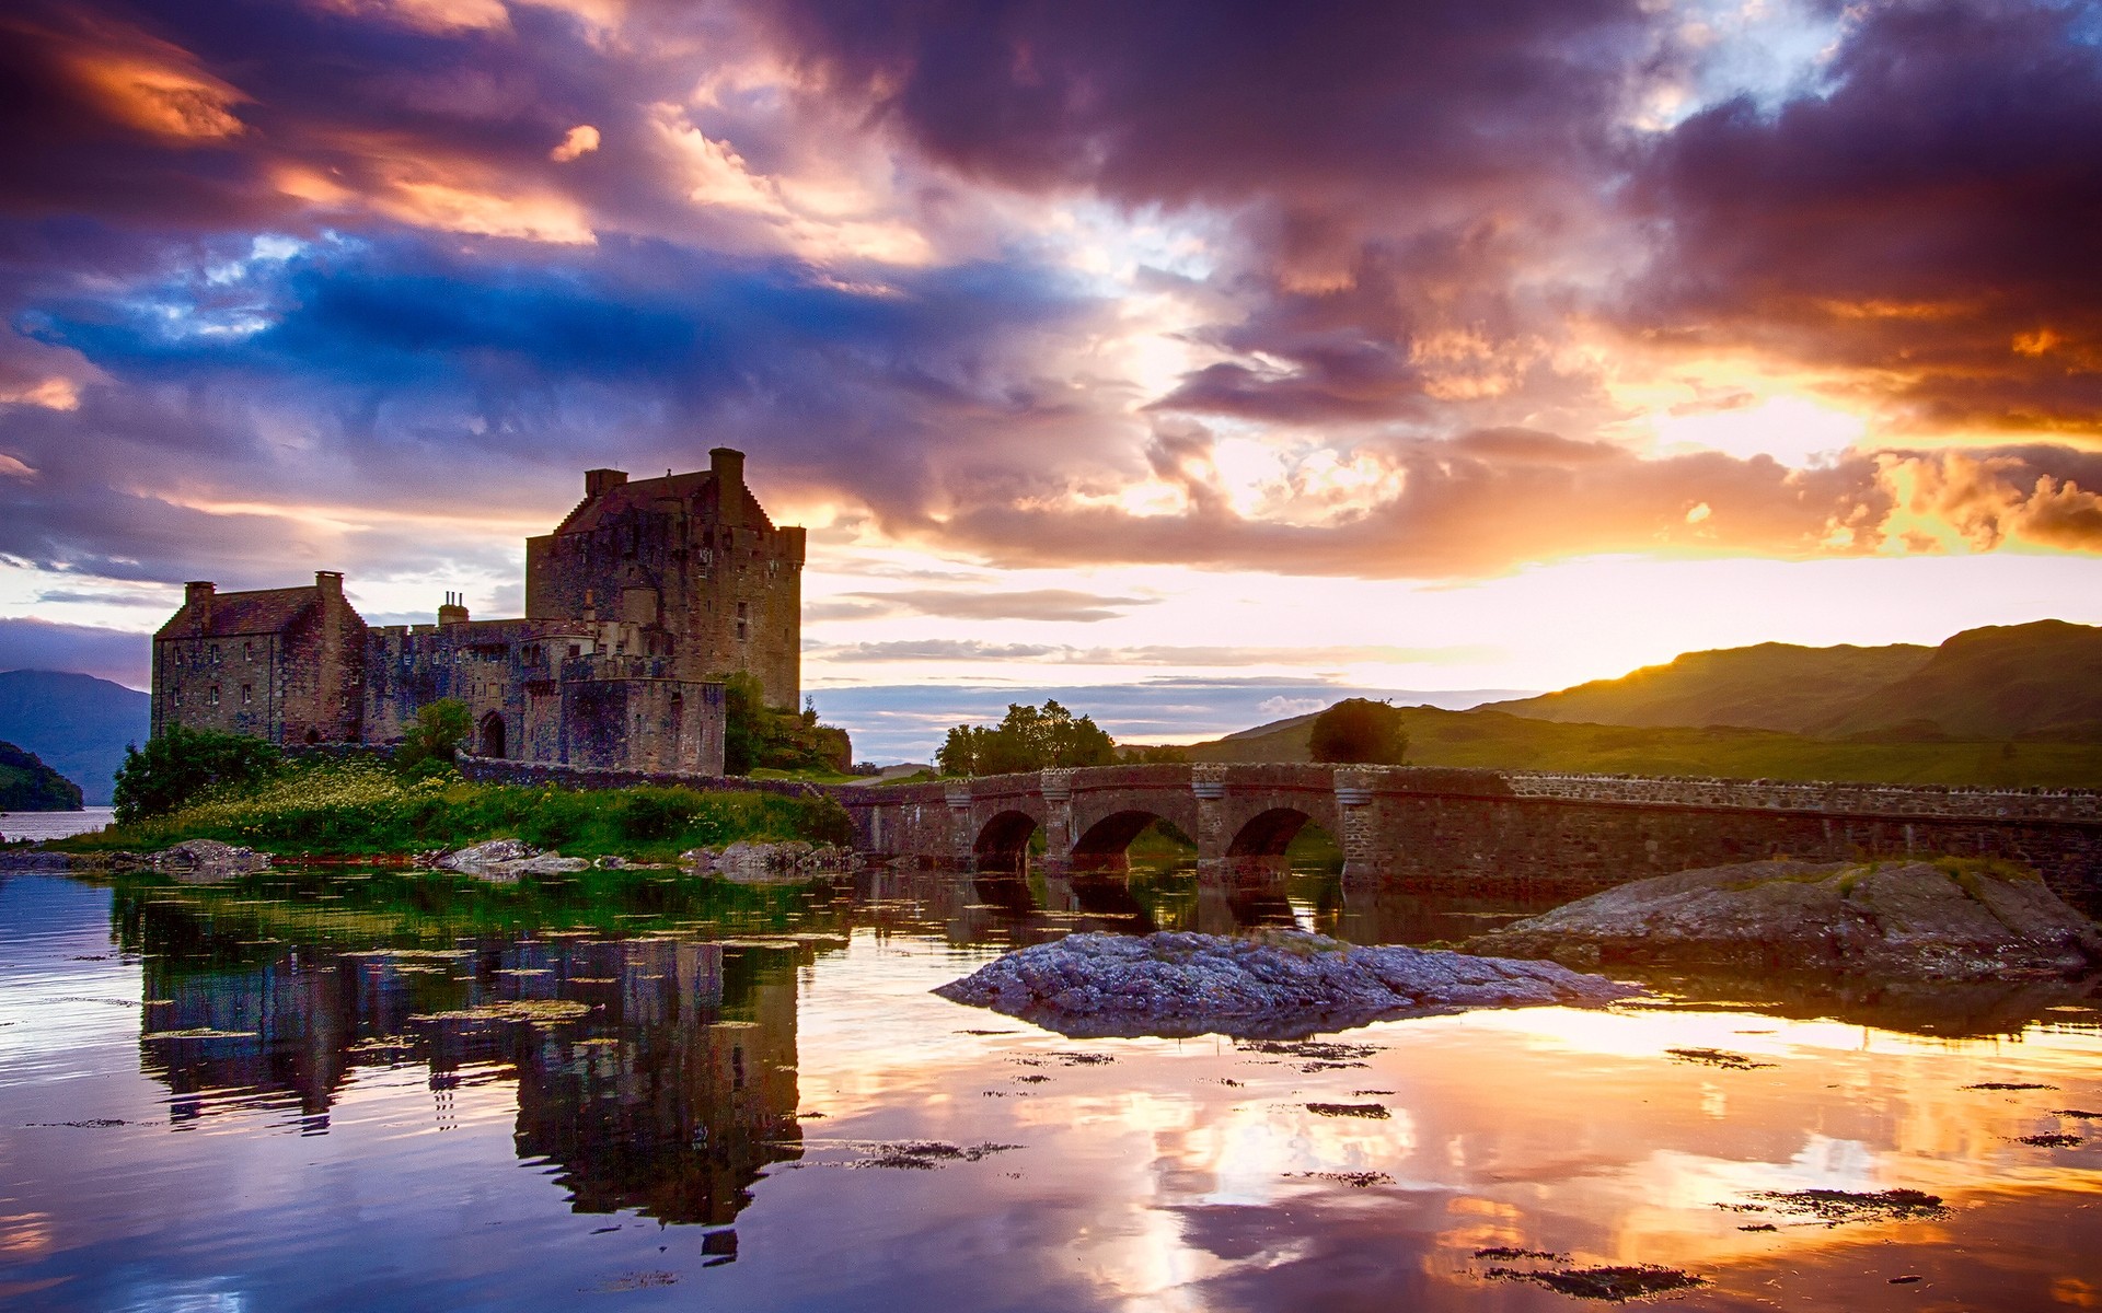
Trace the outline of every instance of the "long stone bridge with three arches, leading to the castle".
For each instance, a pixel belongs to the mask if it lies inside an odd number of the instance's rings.
[[[1122,870],[1154,819],[1198,876],[1282,872],[1314,824],[1354,887],[1583,893],[1761,857],[2005,857],[2102,901],[2102,792],[1766,779],[1642,779],[1444,767],[1133,765],[828,790],[858,847],[963,870]],[[1028,857],[1043,832],[1043,855]]]

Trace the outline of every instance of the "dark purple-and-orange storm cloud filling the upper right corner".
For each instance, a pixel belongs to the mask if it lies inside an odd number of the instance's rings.
[[[1888,370],[1921,429],[2102,426],[2102,46],[2085,4],[1867,8],[1822,97],[1679,124],[1631,319]]]

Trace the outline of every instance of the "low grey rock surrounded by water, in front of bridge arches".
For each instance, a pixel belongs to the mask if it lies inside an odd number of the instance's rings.
[[[1551,962],[1360,947],[1303,931],[1244,939],[1162,931],[1068,935],[996,958],[935,994],[1074,1038],[1286,1040],[1381,1017],[1604,1004],[1642,989]]]

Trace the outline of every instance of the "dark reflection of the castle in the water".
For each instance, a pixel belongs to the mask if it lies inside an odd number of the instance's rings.
[[[290,1095],[320,1134],[353,1067],[420,1061],[444,1126],[465,1074],[511,1065],[517,1151],[555,1164],[578,1212],[702,1225],[734,1221],[767,1164],[801,1155],[795,971],[807,947],[559,935],[345,954],[244,943],[185,905],[118,903],[147,954],[145,1029],[214,1031],[141,1044],[177,1120]],[[492,1004],[589,1010],[469,1015]]]

